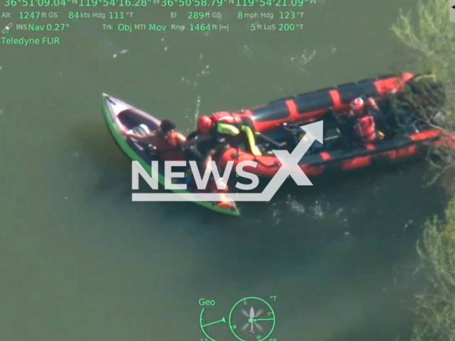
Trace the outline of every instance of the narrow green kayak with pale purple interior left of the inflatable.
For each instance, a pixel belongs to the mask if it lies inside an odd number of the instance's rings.
[[[107,127],[120,149],[122,149],[122,151],[132,161],[138,161],[150,174],[151,161],[157,161],[158,159],[151,156],[146,149],[142,148],[139,144],[134,143],[134,141],[125,136],[122,132],[124,129],[120,128],[123,126],[128,131],[149,133],[151,131],[156,131],[156,129],[159,128],[161,121],[130,104],[122,102],[120,99],[109,96],[108,94],[103,94],[102,96],[102,112],[105,117]],[[181,180],[182,183],[184,182],[184,179],[176,180]],[[159,183],[164,185],[164,173],[162,170],[159,171]],[[191,190],[183,192],[187,194],[194,193],[191,192]],[[176,193],[182,193],[182,191],[176,191]],[[195,203],[225,215],[240,216],[240,212],[235,202],[231,202],[231,207],[219,207],[216,205],[216,202],[195,201]]]

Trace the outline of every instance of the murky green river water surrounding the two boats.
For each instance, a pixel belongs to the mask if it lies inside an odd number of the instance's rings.
[[[188,132],[198,114],[401,71],[410,56],[390,26],[414,6],[318,0],[299,32],[252,32],[256,19],[227,4],[225,32],[127,33],[80,18],[62,20],[60,45],[2,44],[1,340],[204,341],[199,299],[216,301],[210,323],[248,296],[272,305],[279,341],[405,340],[415,242],[444,208],[441,191],[423,187],[423,165],[240,203],[242,218],[131,202],[131,164],[101,94]],[[2,23],[16,25],[18,11]],[[187,11],[178,23],[191,23]],[[134,12],[138,23],[175,21],[159,6]],[[206,332],[237,340],[228,323]]]

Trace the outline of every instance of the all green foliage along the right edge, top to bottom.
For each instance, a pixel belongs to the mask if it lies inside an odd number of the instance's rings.
[[[455,131],[455,23],[449,21],[447,0],[419,1],[417,21],[412,23],[411,13],[400,13],[392,31],[412,49],[418,57],[417,70],[432,70],[444,83],[444,106],[437,110],[437,119],[430,103],[419,104],[413,93],[396,104],[404,109],[411,107],[418,119],[447,132]],[[431,94],[429,98],[434,97]],[[404,103],[404,104],[403,104]],[[455,152],[453,148],[438,148],[437,162],[433,162],[442,184],[455,193]],[[446,172],[449,170],[449,172]],[[436,178],[435,178],[436,179]],[[443,221],[434,217],[424,226],[423,239],[417,251],[429,275],[427,291],[417,298],[417,321],[413,341],[455,341],[455,198],[449,202]]]

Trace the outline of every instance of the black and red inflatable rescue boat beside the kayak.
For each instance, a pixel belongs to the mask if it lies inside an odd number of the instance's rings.
[[[422,155],[420,152],[427,151],[431,144],[445,142],[453,147],[453,136],[448,136],[429,124],[413,122],[410,119],[412,109],[398,114],[394,107],[397,100],[407,100],[405,94],[413,92],[416,85],[422,82],[439,89],[440,83],[434,75],[414,76],[402,73],[297,94],[232,113],[243,125],[267,136],[264,141],[257,139],[262,155],[254,155],[247,148],[228,148],[216,155],[215,160],[220,168],[225,168],[228,161],[232,161],[232,169],[241,161],[255,161],[256,168],[245,167],[244,170],[271,178],[281,163],[271,152],[279,148],[269,141],[286,145],[289,136],[304,133],[299,126],[321,120],[323,144],[316,142],[299,162],[300,168],[308,176],[321,175],[329,170],[350,171],[370,166],[376,161],[391,162]],[[373,97],[385,116],[384,121],[376,122],[382,139],[374,143],[361,143],[353,136],[352,127],[348,123],[340,123],[346,117],[350,101],[357,97]],[[443,99],[439,98],[439,104],[442,102]],[[290,153],[294,147],[295,145],[287,145],[285,148]]]

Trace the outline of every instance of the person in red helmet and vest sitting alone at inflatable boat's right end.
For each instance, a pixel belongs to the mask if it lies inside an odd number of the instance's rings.
[[[365,101],[361,98],[355,98],[350,102],[350,112],[348,116],[355,119],[354,134],[363,142],[373,142],[383,137],[383,134],[376,129],[375,119],[370,114],[370,109],[378,110],[379,107],[375,99],[368,98]]]

